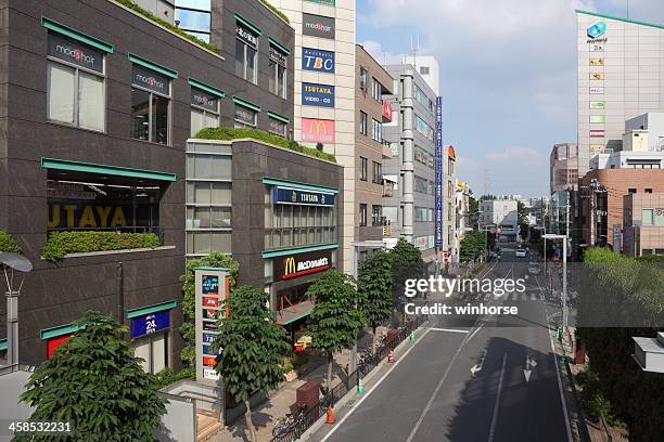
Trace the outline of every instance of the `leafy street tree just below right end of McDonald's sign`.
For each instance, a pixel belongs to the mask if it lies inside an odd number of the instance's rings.
[[[328,388],[332,384],[334,353],[355,343],[362,329],[363,316],[356,306],[363,302],[350,276],[329,271],[309,286],[307,296],[316,300],[309,332],[314,347],[328,352]]]

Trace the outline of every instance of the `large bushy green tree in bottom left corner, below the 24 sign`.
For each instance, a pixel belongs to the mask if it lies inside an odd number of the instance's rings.
[[[99,312],[75,323],[78,332],[30,376],[23,402],[30,420],[67,420],[67,441],[156,441],[153,431],[166,413],[154,375],[145,373],[122,338],[126,326]],[[16,438],[51,441],[51,434]]]

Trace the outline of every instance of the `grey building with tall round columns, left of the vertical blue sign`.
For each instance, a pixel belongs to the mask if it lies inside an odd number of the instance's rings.
[[[390,246],[404,237],[426,261],[433,261],[436,95],[413,66],[390,65],[385,69],[394,78],[394,95],[388,99],[393,120],[383,125],[383,138],[393,156],[384,159],[383,172],[386,180],[397,182],[392,196],[383,198],[383,213],[392,225],[386,242]],[[443,160],[446,167],[446,155]]]

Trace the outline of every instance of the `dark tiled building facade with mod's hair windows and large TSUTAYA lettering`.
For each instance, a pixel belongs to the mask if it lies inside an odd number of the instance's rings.
[[[130,327],[145,369],[179,366],[192,128],[241,119],[270,130],[276,119],[288,132],[293,119],[267,75],[270,49],[292,49],[293,29],[259,2],[224,8],[232,36],[224,48],[235,48],[240,27],[261,31],[258,84],[234,75],[234,52],[215,53],[115,2],[0,4],[0,229],[34,264],[18,309],[21,363],[46,360],[74,321],[98,310]],[[41,259],[49,236],[80,231],[154,233],[161,246]]]

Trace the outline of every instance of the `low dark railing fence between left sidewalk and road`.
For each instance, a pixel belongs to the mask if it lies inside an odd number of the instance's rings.
[[[295,425],[290,429],[288,433],[277,435],[271,439],[270,442],[292,442],[297,440],[309,427],[322,416],[328,406],[334,405],[342,399],[348,391],[356,388],[359,379],[367,376],[369,372],[375,368],[382,360],[387,358],[391,351],[401,343],[408,336],[414,332],[426,321],[426,316],[417,316],[416,318],[406,323],[406,325],[399,328],[398,333],[390,338],[390,340],[383,342],[383,344],[376,349],[375,355],[370,359],[368,364],[362,364],[355,372],[348,375],[345,381],[337,384],[332,390],[330,390],[320,401],[316,408],[306,410],[303,417],[298,419]]]

